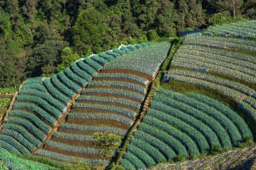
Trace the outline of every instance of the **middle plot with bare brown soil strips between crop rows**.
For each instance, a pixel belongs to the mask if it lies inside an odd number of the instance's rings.
[[[138,46],[123,49],[135,50]],[[140,112],[148,85],[154,79],[169,48],[167,42],[152,44],[124,54],[117,58],[117,62],[113,60],[106,64],[77,97],[66,122],[36,155],[59,161],[63,159],[58,155],[89,160],[89,163],[92,163],[92,159],[103,161],[91,143],[92,134],[114,133],[122,138],[127,134]],[[107,58],[108,55],[120,53],[122,48],[98,56]],[[147,68],[142,69],[141,66]]]

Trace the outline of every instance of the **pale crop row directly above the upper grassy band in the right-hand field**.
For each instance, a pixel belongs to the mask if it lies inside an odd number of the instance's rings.
[[[252,75],[245,74],[241,71],[236,71],[234,69],[230,69],[227,67],[220,67],[218,65],[214,65],[208,62],[202,62],[200,60],[193,60],[192,58],[181,58],[177,57],[172,60],[172,65],[176,65],[179,67],[185,67],[188,69],[205,69],[207,71],[214,71],[216,73],[221,73],[224,75],[228,75],[231,77],[235,77],[237,79],[243,79],[245,81],[249,81],[251,83],[256,83],[256,77]]]

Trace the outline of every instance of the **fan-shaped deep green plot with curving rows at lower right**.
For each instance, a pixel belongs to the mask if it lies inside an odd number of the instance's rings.
[[[158,89],[121,162],[143,169],[162,161],[207,153],[211,146],[236,146],[253,138],[245,120],[205,95],[183,95]]]

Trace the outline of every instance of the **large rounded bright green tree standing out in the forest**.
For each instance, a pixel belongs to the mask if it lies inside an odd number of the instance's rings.
[[[106,50],[110,44],[108,29],[104,16],[94,7],[79,13],[72,29],[73,44],[78,54],[98,53]]]

